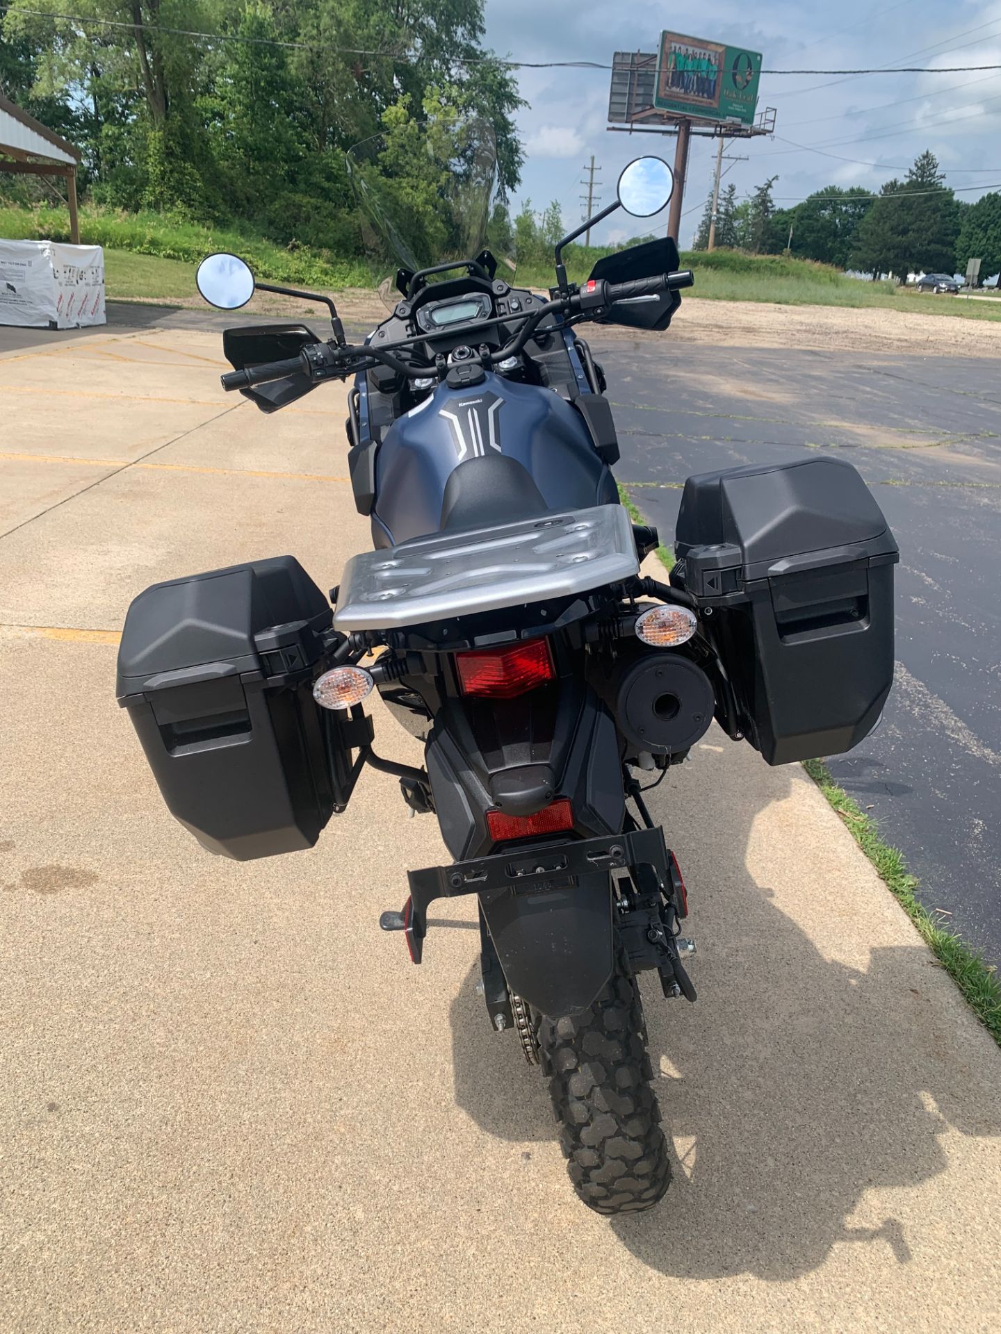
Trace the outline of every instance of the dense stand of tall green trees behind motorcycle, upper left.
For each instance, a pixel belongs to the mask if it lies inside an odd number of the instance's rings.
[[[0,79],[19,100],[55,99],[80,119],[71,137],[93,200],[246,220],[347,253],[362,227],[344,152],[380,131],[432,156],[435,136],[450,139],[456,181],[442,188],[470,203],[476,132],[462,139],[458,127],[486,123],[500,189],[517,187],[522,103],[483,49],[483,3],[79,0],[67,19],[63,0],[11,0]],[[399,107],[406,127],[384,119]],[[427,197],[438,187],[420,164],[403,168],[400,208],[423,245],[440,231]],[[446,212],[438,223],[455,231],[462,211]]]

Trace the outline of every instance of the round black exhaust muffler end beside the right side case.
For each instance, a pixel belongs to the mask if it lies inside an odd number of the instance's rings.
[[[674,754],[705,735],[714,707],[701,667],[675,654],[643,654],[619,680],[615,714],[638,750]]]

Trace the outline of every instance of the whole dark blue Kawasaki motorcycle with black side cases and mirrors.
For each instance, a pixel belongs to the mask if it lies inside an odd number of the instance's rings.
[[[641,157],[585,225],[655,213],[670,188]],[[670,1179],[635,976],[695,999],[685,883],[638,775],[683,760],[714,718],[770,764],[861,740],[892,683],[897,547],[854,468],[810,458],[689,478],[670,582],[641,575],[658,539],[619,504],[579,327],[665,329],[693,277],[651,240],[578,287],[561,255],[583,229],[555,248],[549,300],[482,249],[400,268],[363,344],[324,297],[330,339],[228,329],[223,387],[266,412],[354,376],[347,459],[375,550],[330,602],[291,556],[155,584],[128,612],[117,695],[214,852],[311,847],[366,764],[434,812],[452,862],[411,871],[382,927],[420,963],[432,900],[476,895],[490,1027],[541,1065],[574,1187],[615,1214]],[[255,281],[214,255],[199,287],[231,309]],[[372,688],[424,742],[423,768],[374,752]]]

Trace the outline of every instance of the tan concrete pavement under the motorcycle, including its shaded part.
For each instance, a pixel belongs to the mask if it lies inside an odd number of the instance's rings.
[[[131,598],[284,551],[326,587],[367,543],[343,390],[263,416],[196,323],[0,338],[0,1327],[993,1331],[1001,1054],[797,766],[709,734],[650,794],[699,1000],[646,990],[675,1181],[611,1223],[470,906],[420,968],[378,928],[443,858],[391,778],[298,856],[171,820],[113,700]]]

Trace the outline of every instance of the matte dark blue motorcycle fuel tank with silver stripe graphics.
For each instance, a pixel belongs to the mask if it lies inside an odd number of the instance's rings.
[[[551,510],[618,500],[611,471],[566,399],[486,372],[475,386],[439,384],[386,431],[375,458],[375,546],[438,532],[451,471],[491,454],[523,464]],[[505,518],[498,512],[498,523]]]

